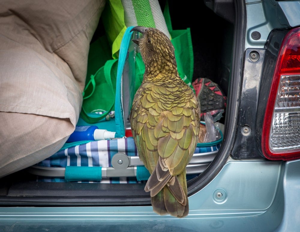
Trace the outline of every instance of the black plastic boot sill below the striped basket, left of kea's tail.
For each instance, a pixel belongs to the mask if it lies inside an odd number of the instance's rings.
[[[0,206],[115,206],[150,204],[145,184],[100,184],[77,182],[13,183]],[[1,196],[2,195],[2,196]],[[134,200],[133,200],[134,195]]]

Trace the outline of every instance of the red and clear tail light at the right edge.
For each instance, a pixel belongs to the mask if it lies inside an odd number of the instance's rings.
[[[262,152],[271,160],[300,158],[300,28],[281,44],[262,128]]]

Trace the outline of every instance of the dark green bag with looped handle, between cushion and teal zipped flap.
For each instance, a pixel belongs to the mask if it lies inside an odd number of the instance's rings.
[[[106,36],[90,44],[80,112],[80,117],[90,124],[101,121],[114,110],[118,60],[111,59],[110,54]]]

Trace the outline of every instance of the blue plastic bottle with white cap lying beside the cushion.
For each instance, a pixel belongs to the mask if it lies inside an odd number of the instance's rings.
[[[67,143],[83,140],[104,140],[115,137],[116,132],[99,129],[97,126],[76,126]]]

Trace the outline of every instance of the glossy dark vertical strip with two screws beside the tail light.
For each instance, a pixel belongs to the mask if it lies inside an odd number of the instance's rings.
[[[259,86],[262,77],[265,49],[249,48],[245,51],[238,125],[232,157],[261,158],[256,146],[256,109]]]

